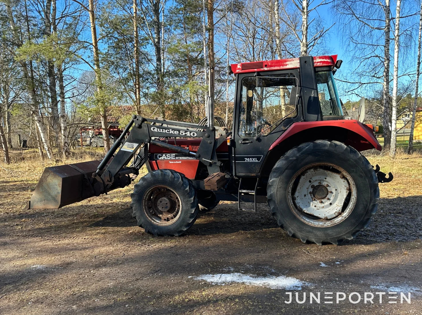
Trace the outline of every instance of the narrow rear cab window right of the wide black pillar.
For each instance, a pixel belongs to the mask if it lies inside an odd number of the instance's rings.
[[[333,73],[331,71],[319,71],[315,73],[315,77],[322,116],[343,116]]]

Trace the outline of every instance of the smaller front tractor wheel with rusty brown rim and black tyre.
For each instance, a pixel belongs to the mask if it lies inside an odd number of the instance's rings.
[[[135,185],[130,197],[138,226],[154,235],[181,235],[198,214],[195,188],[183,174],[173,170],[149,172]]]

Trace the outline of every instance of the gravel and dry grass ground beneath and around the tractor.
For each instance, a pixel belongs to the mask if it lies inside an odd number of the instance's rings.
[[[0,314],[422,314],[422,157],[369,159],[395,180],[380,185],[368,228],[338,246],[289,237],[266,205],[243,213],[227,202],[182,237],[154,237],[131,216],[132,186],[59,210],[23,210],[45,165],[8,166],[0,172]],[[389,291],[398,303],[388,303]],[[411,303],[400,303],[408,291]],[[311,304],[318,292],[321,303]],[[333,304],[324,292],[334,292]],[[346,300],[336,303],[335,292]],[[361,302],[348,301],[353,292]],[[387,294],[371,304],[365,292]]]

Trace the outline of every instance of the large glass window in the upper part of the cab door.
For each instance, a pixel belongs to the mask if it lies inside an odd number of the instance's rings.
[[[297,110],[297,79],[292,74],[246,77],[242,80],[239,115],[241,137],[266,136],[286,118],[295,117]]]

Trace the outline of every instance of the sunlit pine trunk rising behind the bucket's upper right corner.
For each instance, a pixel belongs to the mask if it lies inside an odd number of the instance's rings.
[[[95,68],[95,85],[97,86],[96,101],[100,109],[101,129],[103,131],[104,151],[110,150],[110,139],[108,138],[108,122],[106,115],[106,105],[103,99],[103,80],[101,78],[100,56],[98,51],[97,27],[95,25],[94,0],[89,0],[89,21],[91,24],[92,48]]]

